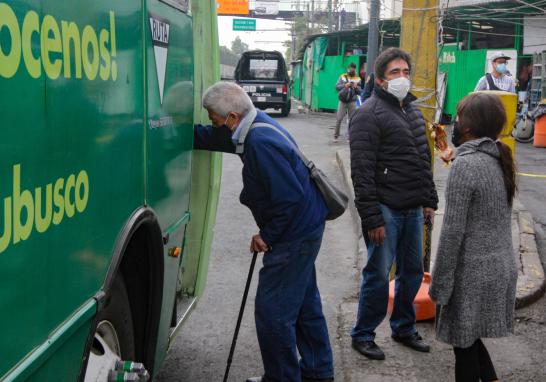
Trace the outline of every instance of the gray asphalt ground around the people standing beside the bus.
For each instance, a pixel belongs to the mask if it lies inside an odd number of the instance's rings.
[[[295,136],[302,150],[328,176],[343,185],[335,152],[346,147],[331,143],[332,115],[297,114],[279,121]],[[520,172],[546,173],[546,149],[518,145]],[[241,295],[250,264],[250,237],[257,232],[250,212],[239,204],[242,188],[239,158],[224,156],[224,172],[207,289],[156,378],[158,382],[221,381],[231,344]],[[440,175],[440,174],[439,174]],[[438,179],[444,192],[445,176]],[[520,177],[520,199],[541,224],[546,223],[546,179]],[[439,227],[438,227],[439,228]],[[394,343],[388,321],[378,328],[377,342],[387,360],[370,361],[350,348],[349,330],[355,319],[362,255],[349,214],[327,224],[317,261],[319,288],[334,348],[336,381],[407,382],[452,381],[454,358],[451,348],[434,340],[434,324],[418,324],[432,345],[430,354],[417,353]],[[256,267],[249,301],[235,352],[229,381],[244,381],[260,375],[262,364],[253,321]],[[546,298],[516,312],[515,335],[487,340],[499,378],[503,382],[546,381]]]

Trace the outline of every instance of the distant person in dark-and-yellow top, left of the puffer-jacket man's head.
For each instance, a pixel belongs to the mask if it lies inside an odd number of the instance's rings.
[[[356,101],[360,95],[360,77],[356,74],[356,64],[351,62],[347,72],[339,76],[336,83],[338,91],[338,106],[336,116],[336,128],[334,130],[334,142],[339,139],[341,122],[345,117],[351,118],[356,110]]]

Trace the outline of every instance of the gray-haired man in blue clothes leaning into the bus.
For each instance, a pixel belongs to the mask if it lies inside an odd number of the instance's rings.
[[[295,140],[257,111],[238,85],[211,86],[203,106],[212,125],[195,126],[194,148],[240,156],[240,201],[260,229],[250,250],[265,253],[255,303],[264,375],[247,381],[332,381],[332,350],[315,272],[328,214],[325,202]]]

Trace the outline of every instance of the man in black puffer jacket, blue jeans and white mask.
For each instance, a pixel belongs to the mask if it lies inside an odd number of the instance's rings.
[[[434,218],[438,196],[425,120],[411,102],[410,56],[389,48],[375,62],[372,96],[350,123],[355,204],[368,246],[362,270],[353,347],[371,359],[385,354],[374,342],[387,312],[389,271],[396,259],[392,337],[414,350],[429,346],[415,328],[413,300],[423,278],[423,223]]]

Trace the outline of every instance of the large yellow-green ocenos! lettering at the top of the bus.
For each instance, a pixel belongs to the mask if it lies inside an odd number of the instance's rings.
[[[110,31],[102,29],[97,34],[86,25],[80,33],[76,23],[63,20],[59,27],[51,15],[45,15],[40,23],[35,11],[28,11],[21,25],[13,9],[0,3],[0,37],[6,31],[9,38],[0,38],[0,77],[13,77],[24,63],[32,78],[40,78],[42,72],[53,80],[61,73],[65,78],[82,78],[83,74],[89,80],[97,75],[103,81],[117,78],[116,21],[112,11]]]

